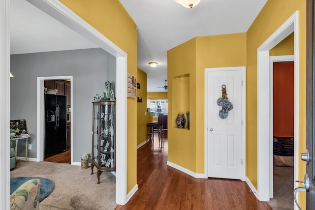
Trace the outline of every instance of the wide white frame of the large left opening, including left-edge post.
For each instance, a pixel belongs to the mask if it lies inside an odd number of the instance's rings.
[[[116,149],[116,203],[124,205],[127,202],[127,54],[60,1],[28,1],[116,57],[116,118],[117,123],[121,126],[121,131],[116,134],[117,144],[120,145]],[[3,95],[0,104],[0,112],[3,116],[0,118],[0,137],[1,139],[9,139],[9,131],[5,129],[5,125],[9,124],[10,121],[10,77],[8,76],[10,72],[10,0],[0,0],[0,49],[0,90]],[[1,163],[5,169],[1,170],[2,176],[0,176],[0,184],[3,186],[3,190],[0,191],[0,209],[9,209],[9,141],[0,141],[0,146],[7,148],[7,150],[3,149],[3,152],[0,152],[3,161]]]

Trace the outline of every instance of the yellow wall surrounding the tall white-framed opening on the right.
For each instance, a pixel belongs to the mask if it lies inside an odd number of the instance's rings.
[[[268,0],[247,32],[246,139],[247,177],[257,187],[257,48],[296,10],[299,11],[299,151],[306,148],[306,1]],[[249,97],[250,96],[250,97]],[[300,160],[299,160],[300,161]],[[299,162],[299,180],[304,180],[305,162]],[[305,194],[300,193],[301,204]],[[301,205],[302,209],[304,205]]]

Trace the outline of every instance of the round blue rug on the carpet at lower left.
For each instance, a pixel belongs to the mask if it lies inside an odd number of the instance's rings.
[[[39,202],[47,198],[54,190],[55,184],[52,180],[41,177],[16,177],[10,179],[10,194],[12,194],[24,182],[32,179],[40,179]]]

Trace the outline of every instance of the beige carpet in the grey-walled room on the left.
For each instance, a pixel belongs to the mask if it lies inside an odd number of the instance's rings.
[[[97,184],[91,168],[53,162],[19,161],[11,171],[13,177],[42,177],[53,180],[55,189],[39,203],[42,210],[114,210],[115,181],[110,172],[103,172]]]

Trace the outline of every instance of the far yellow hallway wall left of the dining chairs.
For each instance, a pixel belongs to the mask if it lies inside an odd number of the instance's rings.
[[[137,103],[137,145],[140,145],[147,140],[147,124],[152,121],[152,114],[146,115],[147,74],[139,68],[137,83],[140,83],[140,89],[137,89],[137,97],[142,98],[142,102]]]

